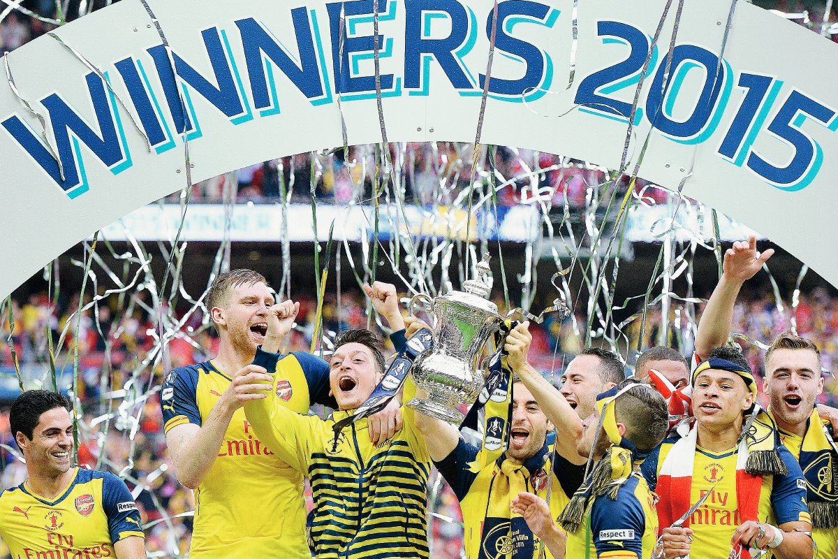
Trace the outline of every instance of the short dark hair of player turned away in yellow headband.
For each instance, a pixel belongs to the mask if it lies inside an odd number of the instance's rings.
[[[624,437],[634,443],[639,450],[651,450],[666,437],[670,427],[670,412],[664,396],[647,384],[625,380],[618,385],[622,390],[630,383],[635,383],[614,404],[614,418],[626,426]]]

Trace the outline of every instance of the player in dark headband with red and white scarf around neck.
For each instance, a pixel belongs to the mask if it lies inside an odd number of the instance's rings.
[[[660,496],[662,556],[724,559],[768,547],[779,559],[810,559],[803,473],[754,407],[747,360],[735,349],[714,350],[693,371],[692,387],[696,427],[666,439],[642,467]]]

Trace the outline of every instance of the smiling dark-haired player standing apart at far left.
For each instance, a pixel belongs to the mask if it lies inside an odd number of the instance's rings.
[[[140,514],[122,479],[71,465],[72,409],[50,391],[23,392],[12,404],[27,479],[0,491],[0,539],[20,558],[145,559]]]

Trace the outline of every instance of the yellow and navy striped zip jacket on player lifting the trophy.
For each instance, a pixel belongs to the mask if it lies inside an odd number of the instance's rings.
[[[256,365],[270,361],[259,349]],[[271,370],[269,367],[267,368]],[[277,402],[277,371],[267,398],[245,404],[247,421],[262,443],[308,477],[314,500],[310,545],[318,559],[416,557],[427,559],[427,478],[431,458],[402,407],[404,427],[374,447],[366,419],[346,427],[335,441],[335,411],[328,420],[296,413]],[[408,382],[405,398],[416,387]]]

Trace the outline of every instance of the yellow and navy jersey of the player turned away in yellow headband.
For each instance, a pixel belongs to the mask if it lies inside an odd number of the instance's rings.
[[[607,495],[593,500],[582,525],[567,535],[565,556],[568,559],[647,559],[652,556],[657,540],[654,495],[635,470],[620,487],[616,500]]]

